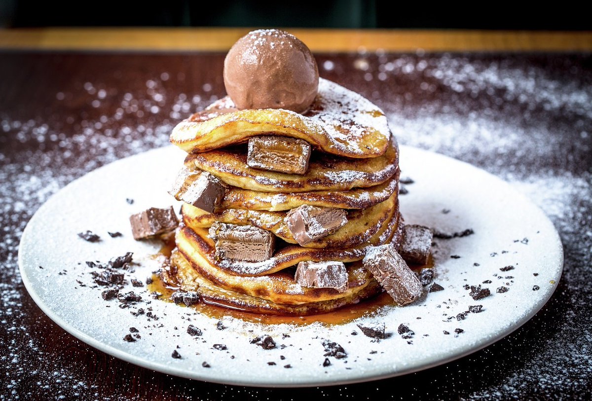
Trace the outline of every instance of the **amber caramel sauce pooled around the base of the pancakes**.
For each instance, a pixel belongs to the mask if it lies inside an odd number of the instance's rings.
[[[168,251],[168,255],[170,256],[170,251],[174,247],[174,239],[172,247],[169,244],[163,246],[163,250]],[[166,256],[165,253],[162,253]],[[434,261],[432,256],[430,255],[427,264],[425,265],[411,265],[411,270],[420,270],[425,267],[433,268]],[[150,292],[158,292],[162,294],[159,299],[163,300],[164,302],[173,302],[170,299],[170,295],[175,292],[178,288],[175,286],[169,286],[160,278],[158,274],[152,275],[152,283],[148,284],[148,290]],[[308,315],[308,316],[282,316],[282,315],[263,315],[260,313],[252,313],[252,312],[245,312],[236,309],[236,306],[224,306],[224,305],[216,305],[214,303],[209,302],[208,300],[202,299],[202,302],[197,303],[192,306],[185,306],[184,304],[180,303],[178,306],[181,308],[191,308],[194,309],[198,313],[203,313],[206,316],[214,319],[221,319],[224,316],[231,316],[233,318],[241,319],[246,322],[251,323],[260,323],[260,324],[292,324],[292,325],[308,325],[312,323],[319,322],[324,325],[339,325],[345,324],[355,319],[361,318],[362,316],[370,316],[382,308],[383,306],[387,305],[395,305],[394,301],[392,300],[391,296],[387,293],[383,292],[378,296],[375,296],[372,299],[364,300],[359,303],[355,303],[353,305],[344,306],[343,308],[339,308],[336,311],[328,312],[328,313],[320,313],[318,315]]]

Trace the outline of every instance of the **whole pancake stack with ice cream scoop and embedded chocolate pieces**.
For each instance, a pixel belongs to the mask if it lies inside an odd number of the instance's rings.
[[[302,46],[275,30],[239,40],[225,62],[230,96],[182,121],[170,135],[188,156],[170,191],[184,203],[176,248],[162,277],[206,303],[310,315],[393,286],[397,300],[400,275],[388,270],[391,260],[380,259],[396,254],[402,240],[397,143],[381,109],[319,79],[314,57]],[[308,72],[316,73],[312,86],[290,83],[295,78],[286,77],[286,69],[302,66],[282,66],[281,51],[288,52],[285,59],[309,60]],[[254,58],[259,70],[241,77],[244,85],[234,85],[240,79],[233,71],[250,71]],[[311,88],[314,98],[303,106],[298,99],[310,96]],[[381,245],[392,251],[377,251]],[[362,260],[372,250],[371,267],[365,267]],[[411,276],[412,296],[404,289],[399,303],[421,292]],[[379,283],[375,277],[387,279]]]

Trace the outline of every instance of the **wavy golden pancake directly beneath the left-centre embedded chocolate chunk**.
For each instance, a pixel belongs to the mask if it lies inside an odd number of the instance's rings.
[[[400,243],[403,224],[397,213],[365,244],[357,247],[339,249],[304,248],[297,245],[287,245],[275,251],[274,256],[262,262],[237,261],[215,257],[214,241],[208,236],[205,228],[195,230],[181,225],[175,235],[175,244],[188,260],[197,264],[198,271],[211,279],[211,275],[218,273],[238,277],[265,276],[276,271],[295,266],[300,261],[342,261],[344,263],[362,260],[369,247],[383,245],[388,241]],[[215,280],[212,280],[215,281]]]

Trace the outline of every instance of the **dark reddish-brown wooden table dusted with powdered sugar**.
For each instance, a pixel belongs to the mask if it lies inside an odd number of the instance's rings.
[[[506,179],[561,234],[565,268],[554,296],[484,350],[394,379],[258,389],[128,364],[47,318],[18,273],[28,219],[96,167],[168,144],[176,122],[224,95],[223,59],[221,52],[0,51],[0,400],[590,399],[590,53],[317,53],[321,76],[381,106],[400,143]]]

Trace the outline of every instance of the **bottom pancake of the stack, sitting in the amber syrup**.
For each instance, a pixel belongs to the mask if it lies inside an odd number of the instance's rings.
[[[358,303],[363,299],[375,296],[382,292],[382,287],[375,279],[365,282],[361,288],[348,293],[339,293],[339,297],[333,299],[316,300],[314,294],[309,294],[310,302],[294,304],[275,303],[268,299],[258,296],[245,295],[240,292],[223,289],[215,286],[212,282],[205,279],[197,270],[193,269],[185,257],[178,251],[174,251],[171,256],[171,262],[175,266],[174,274],[167,270],[161,271],[161,277],[165,283],[179,287],[184,291],[195,291],[203,302],[213,305],[226,306],[226,308],[237,309],[244,312],[264,313],[273,315],[313,315],[316,313],[326,313],[342,308],[342,306]],[[357,269],[354,267],[353,269]],[[352,270],[352,267],[349,268]],[[274,279],[272,279],[274,280]],[[288,279],[279,282],[289,282]],[[291,283],[294,285],[295,283]],[[352,285],[355,283],[352,283]],[[296,284],[297,285],[297,284]]]

